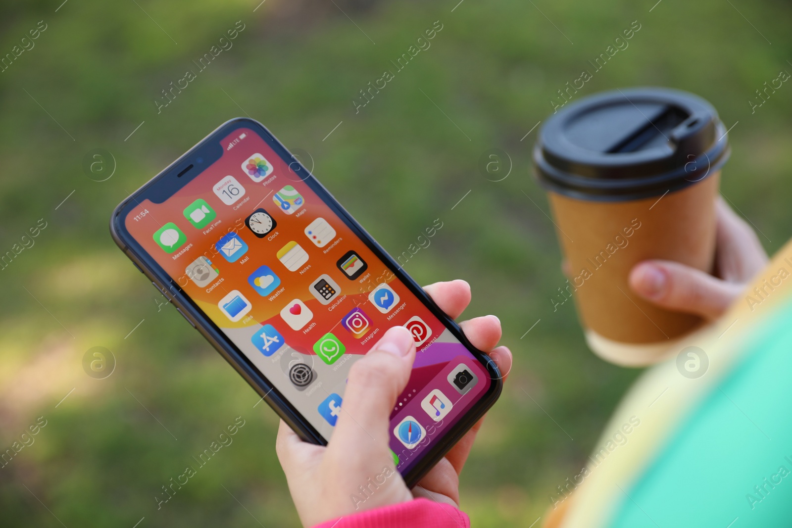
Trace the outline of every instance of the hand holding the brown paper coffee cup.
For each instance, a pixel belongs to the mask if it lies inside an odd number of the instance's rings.
[[[667,310],[721,316],[748,281],[767,264],[753,230],[718,196],[715,276],[670,260],[644,260],[630,272],[630,287]]]

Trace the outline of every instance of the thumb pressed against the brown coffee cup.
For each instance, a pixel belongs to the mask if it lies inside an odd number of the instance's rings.
[[[645,260],[630,272],[630,287],[649,302],[668,310],[715,319],[743,289],[670,260]]]

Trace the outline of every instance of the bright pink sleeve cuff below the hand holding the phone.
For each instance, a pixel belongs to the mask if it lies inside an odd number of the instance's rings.
[[[416,499],[346,515],[314,528],[470,528],[470,519],[448,504]]]

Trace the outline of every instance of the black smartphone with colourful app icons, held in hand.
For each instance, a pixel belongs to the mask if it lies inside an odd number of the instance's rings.
[[[120,203],[110,230],[308,442],[333,435],[352,364],[406,326],[417,356],[390,449],[409,486],[501,393],[493,360],[255,120],[211,132]]]

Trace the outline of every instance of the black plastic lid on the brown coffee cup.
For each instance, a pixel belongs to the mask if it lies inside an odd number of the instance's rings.
[[[534,146],[544,187],[603,201],[659,196],[715,173],[729,158],[715,108],[692,93],[617,89],[569,103]]]

